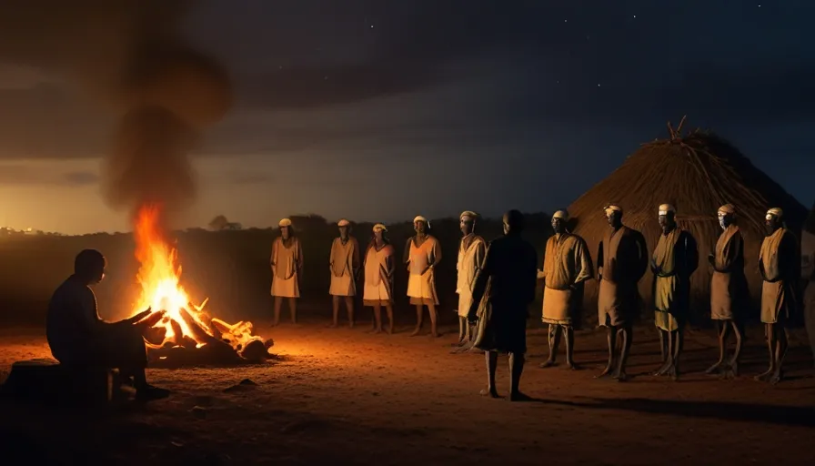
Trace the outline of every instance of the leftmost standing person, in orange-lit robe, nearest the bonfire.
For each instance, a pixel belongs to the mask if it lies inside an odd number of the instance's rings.
[[[300,297],[300,274],[303,273],[303,248],[295,236],[291,220],[283,218],[277,224],[280,236],[272,243],[269,266],[272,268],[272,296],[275,297],[275,320],[272,326],[280,323],[280,308],[283,299],[288,300],[291,322],[297,323],[297,298]]]

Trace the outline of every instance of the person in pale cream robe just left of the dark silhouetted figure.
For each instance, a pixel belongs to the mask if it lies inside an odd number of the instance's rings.
[[[467,315],[472,305],[473,283],[478,277],[478,271],[484,262],[484,255],[487,254],[487,242],[484,238],[476,235],[476,218],[478,214],[472,210],[466,210],[458,216],[458,226],[463,235],[458,243],[458,282],[456,292],[458,293],[458,343],[453,346],[463,347],[472,341],[473,326],[469,325]]]

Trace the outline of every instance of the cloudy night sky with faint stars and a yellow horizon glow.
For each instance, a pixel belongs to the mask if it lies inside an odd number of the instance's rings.
[[[552,211],[686,114],[810,206],[813,17],[800,0],[201,1],[186,31],[236,102],[176,223]],[[0,55],[0,224],[127,230],[98,187],[115,118],[51,65]]]

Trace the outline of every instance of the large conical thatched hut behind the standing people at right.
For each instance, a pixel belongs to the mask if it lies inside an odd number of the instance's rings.
[[[725,140],[699,130],[680,137],[670,125],[669,131],[668,139],[643,144],[609,177],[569,206],[569,214],[576,221],[574,232],[586,239],[596,262],[599,241],[609,228],[603,207],[615,203],[623,208],[623,223],[645,235],[651,253],[660,233],[659,204],[672,204],[677,209],[679,227],[689,230],[699,243],[699,268],[691,278],[691,317],[699,322],[709,315],[712,270],[707,258],[721,233],[717,210],[733,204],[745,238],[745,272],[755,305],[760,298],[757,262],[767,209],[783,208],[787,224],[796,234],[807,209]],[[639,283],[644,299],[642,316],[647,319],[653,309],[651,284],[648,271]],[[585,304],[587,317],[596,316],[592,312],[597,309],[593,280],[587,287]]]

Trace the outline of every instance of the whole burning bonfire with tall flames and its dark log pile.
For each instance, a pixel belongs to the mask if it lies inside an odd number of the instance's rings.
[[[212,318],[207,299],[195,304],[181,286],[181,266],[160,225],[157,206],[139,209],[136,218],[136,278],[141,286],[134,315],[144,309],[165,311],[146,335],[148,357],[155,365],[236,364],[269,358],[273,342],[253,333],[252,322],[235,324]]]

